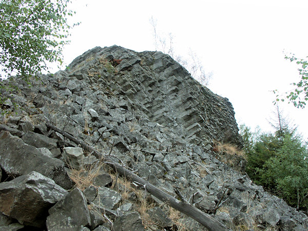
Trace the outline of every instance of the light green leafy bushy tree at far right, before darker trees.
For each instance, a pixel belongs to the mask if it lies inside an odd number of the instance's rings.
[[[305,200],[308,194],[307,157],[307,148],[301,140],[287,134],[275,156],[264,165],[268,183],[275,185],[277,194],[297,209],[308,205]]]

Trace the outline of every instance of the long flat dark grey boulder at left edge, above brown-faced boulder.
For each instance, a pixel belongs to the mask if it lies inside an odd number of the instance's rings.
[[[0,132],[0,166],[8,175],[21,176],[37,171],[65,189],[73,186],[62,161],[44,156],[8,131]]]

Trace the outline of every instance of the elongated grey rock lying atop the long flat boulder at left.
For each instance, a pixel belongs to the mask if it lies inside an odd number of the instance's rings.
[[[57,140],[48,138],[43,134],[38,134],[32,131],[28,131],[22,137],[26,144],[32,145],[37,148],[46,147],[48,149],[53,149],[57,147]]]

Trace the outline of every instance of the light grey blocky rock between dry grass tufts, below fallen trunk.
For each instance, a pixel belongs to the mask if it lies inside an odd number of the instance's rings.
[[[98,195],[94,199],[93,205],[100,209],[104,208],[114,209],[119,205],[121,200],[122,197],[118,192],[113,191],[110,188],[99,187]]]

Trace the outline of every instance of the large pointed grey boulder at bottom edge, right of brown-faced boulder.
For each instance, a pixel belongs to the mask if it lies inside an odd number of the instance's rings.
[[[78,230],[91,226],[87,201],[83,192],[75,188],[49,210],[46,226],[48,230]]]

